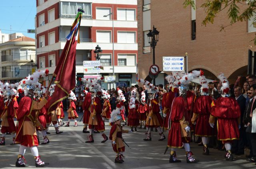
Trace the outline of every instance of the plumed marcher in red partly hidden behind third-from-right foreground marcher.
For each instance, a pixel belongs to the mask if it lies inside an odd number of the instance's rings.
[[[162,109],[163,109],[163,117],[164,117],[163,128],[167,130],[172,101],[174,99],[174,92],[172,91],[174,77],[173,75],[168,75],[167,77],[165,77],[165,79],[169,83],[169,85],[168,85],[168,90],[166,93],[164,93],[164,96],[162,99]]]

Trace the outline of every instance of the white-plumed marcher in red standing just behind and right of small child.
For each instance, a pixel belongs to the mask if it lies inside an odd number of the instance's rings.
[[[140,125],[139,120],[139,114],[138,114],[138,104],[136,104],[136,94],[137,90],[136,88],[133,88],[132,92],[130,93],[130,101],[128,104],[128,126],[131,127],[131,130],[133,132],[133,127],[135,128],[135,131],[137,131],[137,126]]]

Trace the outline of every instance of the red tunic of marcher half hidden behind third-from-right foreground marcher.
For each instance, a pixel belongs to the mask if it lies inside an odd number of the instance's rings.
[[[167,93],[164,93],[163,99],[162,99],[162,110],[166,110],[166,118],[164,118],[164,128],[168,129],[168,121],[170,117],[171,107],[172,107],[172,101],[174,99],[174,92],[169,91]]]

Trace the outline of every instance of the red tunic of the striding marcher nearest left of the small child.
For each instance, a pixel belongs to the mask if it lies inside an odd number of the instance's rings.
[[[98,122],[98,125],[94,125],[94,128],[98,131],[104,131],[105,130],[105,124],[102,120],[102,117],[100,116],[102,113],[102,106],[101,106],[101,102],[100,102],[100,98],[95,97],[94,98],[94,102],[91,105],[91,114],[93,114],[93,112],[96,112],[96,120]],[[90,122],[89,122],[90,123]],[[89,128],[92,128],[92,125],[89,124]]]

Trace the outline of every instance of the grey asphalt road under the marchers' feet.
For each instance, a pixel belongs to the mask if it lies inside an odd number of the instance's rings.
[[[82,117],[82,114],[78,114]],[[66,121],[65,119],[64,121]],[[226,161],[224,151],[210,148],[210,155],[202,155],[202,146],[191,143],[191,151],[195,158],[200,160],[198,164],[187,164],[184,149],[176,151],[181,163],[169,163],[170,149],[164,155],[167,139],[158,141],[160,138],[157,132],[152,132],[152,141],[143,141],[146,138],[144,129],[138,129],[132,134],[123,134],[124,140],[132,149],[126,146],[124,163],[114,163],[115,153],[112,149],[111,141],[101,143],[103,140],[100,134],[94,134],[94,143],[84,143],[88,140],[89,134],[82,133],[83,124],[78,122],[78,127],[74,126],[74,121],[70,122],[70,127],[60,127],[63,134],[56,135],[54,127],[49,128],[51,134],[48,135],[49,144],[39,145],[38,151],[44,162],[50,163],[52,169],[58,168],[85,168],[85,169],[244,169],[256,168],[254,163],[245,160],[245,156],[235,156],[235,161]],[[125,129],[129,129],[125,127]],[[110,126],[106,122],[106,135],[109,136]],[[167,136],[167,133],[165,134]],[[42,136],[40,136],[42,141]],[[0,146],[0,168],[15,167],[19,145],[10,145],[12,138],[6,136],[6,145]],[[30,167],[35,167],[33,155],[29,148],[24,155]]]

